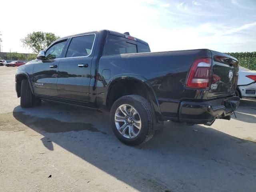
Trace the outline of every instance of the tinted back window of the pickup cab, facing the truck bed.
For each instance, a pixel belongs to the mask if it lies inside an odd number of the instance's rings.
[[[106,44],[106,55],[120,55],[142,52],[150,52],[149,46],[119,36],[108,36]]]

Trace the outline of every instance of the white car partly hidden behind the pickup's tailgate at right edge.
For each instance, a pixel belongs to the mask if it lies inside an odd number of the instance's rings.
[[[240,98],[256,98],[256,71],[239,67],[236,96]]]

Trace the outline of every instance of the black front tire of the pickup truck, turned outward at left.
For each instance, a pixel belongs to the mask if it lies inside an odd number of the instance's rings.
[[[22,108],[28,108],[32,106],[39,106],[42,104],[40,98],[36,98],[31,92],[28,79],[23,79],[21,82],[21,91],[20,91],[20,106]]]

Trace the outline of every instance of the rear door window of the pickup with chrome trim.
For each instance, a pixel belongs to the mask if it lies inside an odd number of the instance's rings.
[[[73,37],[68,47],[66,57],[81,57],[90,55],[92,52],[94,38],[94,34]]]

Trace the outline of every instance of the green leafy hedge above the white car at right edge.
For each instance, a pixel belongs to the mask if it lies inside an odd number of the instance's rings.
[[[239,65],[250,70],[256,70],[256,52],[226,53],[238,59]]]

